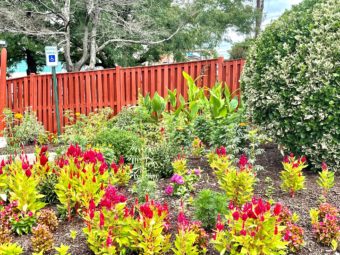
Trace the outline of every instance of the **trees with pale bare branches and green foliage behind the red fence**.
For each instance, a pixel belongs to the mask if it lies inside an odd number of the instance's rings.
[[[36,71],[48,43],[59,46],[68,71],[77,71],[163,54],[183,60],[188,51],[213,49],[229,27],[249,33],[255,11],[249,0],[3,0],[0,19],[10,64],[33,59],[29,71]]]

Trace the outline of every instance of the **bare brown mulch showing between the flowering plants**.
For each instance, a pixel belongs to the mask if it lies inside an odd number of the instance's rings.
[[[305,231],[305,247],[298,254],[300,255],[326,255],[335,254],[331,251],[329,247],[324,247],[319,245],[313,239],[312,228],[309,218],[310,208],[315,208],[319,203],[320,188],[316,184],[316,179],[318,175],[311,171],[306,170],[306,189],[298,192],[294,198],[291,198],[288,193],[281,191],[280,189],[280,177],[279,172],[282,170],[281,160],[282,155],[277,150],[276,145],[270,144],[264,147],[265,153],[261,155],[258,159],[257,164],[262,165],[265,170],[258,173],[258,182],[255,187],[255,195],[265,198],[265,193],[268,185],[273,186],[274,192],[272,198],[275,201],[281,202],[282,204],[288,206],[293,212],[296,212],[300,216],[299,224],[304,228]],[[190,167],[197,168],[200,167],[203,170],[202,178],[197,184],[196,191],[191,194],[193,197],[202,189],[212,189],[215,191],[220,191],[216,178],[212,173],[206,159],[191,159],[189,162]],[[264,180],[266,177],[272,179],[272,184],[266,183]],[[328,196],[328,202],[340,208],[340,182],[339,174],[336,175],[336,184]],[[177,221],[178,206],[180,205],[180,199],[168,197],[164,194],[165,187],[169,184],[168,179],[162,179],[158,181],[158,201],[167,202],[170,209],[170,223],[172,229],[171,232],[175,232],[175,226]],[[128,189],[121,190],[122,193],[133,201],[134,195]],[[187,214],[191,218],[192,207],[187,206]],[[80,219],[73,219],[70,223],[67,221],[62,221],[59,224],[57,231],[54,233],[55,245],[59,246],[61,243],[70,246],[69,252],[72,255],[87,255],[93,254],[86,245],[85,236],[82,233],[82,228],[84,224]],[[73,241],[70,236],[70,230],[76,230],[78,232],[77,238]],[[30,245],[30,236],[15,237],[15,241],[22,245],[25,249],[24,254],[32,254]],[[51,253],[53,254],[53,253]],[[211,249],[208,254],[217,254]]]

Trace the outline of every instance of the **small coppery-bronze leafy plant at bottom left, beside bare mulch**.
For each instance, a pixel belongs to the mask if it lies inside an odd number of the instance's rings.
[[[47,226],[38,225],[32,230],[32,248],[35,252],[48,252],[53,248],[53,234]]]

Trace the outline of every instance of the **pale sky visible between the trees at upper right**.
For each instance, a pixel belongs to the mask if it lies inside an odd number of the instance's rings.
[[[302,0],[264,0],[264,20],[263,26],[265,27],[271,21],[280,17],[285,10],[289,10],[293,5],[302,2]],[[223,41],[217,48],[217,53],[219,56],[225,58],[228,57],[228,50],[230,49],[233,42],[239,42],[244,39],[242,35],[229,30],[226,37],[231,40],[231,42]]]

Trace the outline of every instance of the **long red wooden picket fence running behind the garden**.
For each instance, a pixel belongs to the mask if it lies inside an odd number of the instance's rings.
[[[57,75],[61,126],[65,110],[88,114],[97,108],[111,107],[117,114],[125,105],[134,105],[138,92],[143,95],[157,91],[166,96],[167,90],[177,89],[187,97],[182,71],[198,78],[198,85],[213,86],[224,81],[231,91],[239,88],[244,60],[224,61],[223,58],[157,66],[105,69],[97,71],[60,73]],[[0,83],[5,106],[14,112],[32,107],[46,130],[56,132],[55,106],[51,75],[31,75],[8,79]],[[2,86],[2,87],[1,87]],[[4,95],[4,96],[3,96]],[[3,99],[2,99],[3,100]],[[0,103],[0,112],[4,105]]]

